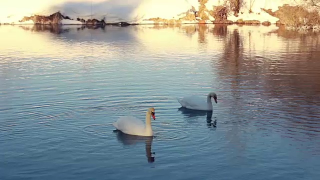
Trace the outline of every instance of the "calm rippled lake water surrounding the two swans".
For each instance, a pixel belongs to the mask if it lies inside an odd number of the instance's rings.
[[[320,34],[0,26],[0,179],[317,179]],[[177,97],[217,94],[212,112]],[[145,119],[155,137],[111,122]]]

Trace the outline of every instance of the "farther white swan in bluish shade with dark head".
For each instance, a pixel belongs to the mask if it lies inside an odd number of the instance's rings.
[[[182,107],[193,109],[193,110],[212,110],[212,101],[211,97],[213,97],[215,103],[216,101],[216,94],[214,92],[210,92],[206,97],[206,102],[197,97],[197,96],[188,96],[177,98],[178,102],[182,105]]]

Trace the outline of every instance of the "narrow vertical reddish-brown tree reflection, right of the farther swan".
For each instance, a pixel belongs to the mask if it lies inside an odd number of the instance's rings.
[[[232,95],[232,103],[228,103],[230,113],[230,120],[240,121],[241,117],[236,117],[237,119],[231,119],[232,113],[234,111],[240,110],[243,105],[243,100],[240,97],[240,86],[241,86],[241,66],[243,65],[244,52],[243,52],[243,39],[239,35],[238,29],[232,29],[231,31],[225,31],[223,26],[217,26],[213,28],[214,33],[219,33],[222,35],[224,40],[222,56],[219,58],[218,62],[218,78],[224,80],[230,80],[230,91]],[[227,87],[224,87],[227,88]],[[244,139],[241,138],[241,128],[237,123],[232,123],[231,129],[226,131],[225,138],[229,141],[227,146],[229,148],[237,148],[236,151],[238,156],[241,156],[242,150],[245,150],[246,143]]]

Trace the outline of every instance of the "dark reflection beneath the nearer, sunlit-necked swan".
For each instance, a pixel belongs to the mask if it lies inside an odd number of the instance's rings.
[[[124,145],[133,145],[136,143],[144,142],[145,143],[145,156],[147,157],[148,162],[154,162],[155,152],[151,152],[151,144],[153,137],[152,136],[137,136],[129,135],[121,132],[120,130],[113,130],[116,133],[117,140],[122,142]]]

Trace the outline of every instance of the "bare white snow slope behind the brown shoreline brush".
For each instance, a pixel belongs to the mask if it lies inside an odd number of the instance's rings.
[[[241,0],[238,16],[228,15],[228,19],[270,21],[278,20],[261,8],[277,10],[278,6],[287,3],[296,5],[301,0]],[[189,10],[199,10],[200,3],[210,10],[213,5],[221,5],[223,0],[0,0],[0,23],[33,23],[32,20],[19,22],[24,16],[50,15],[61,12],[69,18],[64,23],[80,23],[76,18],[105,22],[125,21],[143,23],[143,19],[163,18],[179,19]],[[251,10],[252,13],[249,13]],[[192,12],[193,13],[193,12]],[[214,18],[210,15],[210,20]],[[192,20],[191,20],[192,22]],[[194,20],[194,22],[196,22]]]

